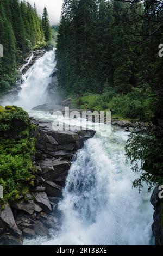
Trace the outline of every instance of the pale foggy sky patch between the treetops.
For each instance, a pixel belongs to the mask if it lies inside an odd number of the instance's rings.
[[[56,25],[59,22],[62,0],[28,0],[30,4],[36,4],[38,13],[42,16],[43,7],[46,6],[49,14],[51,25]]]

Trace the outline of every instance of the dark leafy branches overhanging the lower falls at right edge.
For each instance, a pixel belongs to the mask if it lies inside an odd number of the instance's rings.
[[[148,190],[155,184],[163,182],[163,133],[161,127],[153,127],[145,134],[131,133],[126,145],[126,155],[140,178],[133,182],[140,190],[143,182],[149,185]]]

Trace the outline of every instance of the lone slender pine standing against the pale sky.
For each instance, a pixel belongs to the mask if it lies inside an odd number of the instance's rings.
[[[48,12],[47,12],[46,7],[44,7],[44,9],[43,9],[42,29],[45,34],[46,42],[52,40],[52,31],[51,31],[51,26],[50,26]]]

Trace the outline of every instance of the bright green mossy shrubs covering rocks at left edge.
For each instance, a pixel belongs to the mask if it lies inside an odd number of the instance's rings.
[[[15,200],[33,180],[35,138],[29,137],[29,132],[35,130],[35,125],[30,124],[28,114],[21,108],[7,106],[0,109],[0,185],[4,190],[4,198],[1,200],[3,203]],[[4,131],[16,131],[18,136],[6,139]],[[11,134],[9,133],[10,136]]]

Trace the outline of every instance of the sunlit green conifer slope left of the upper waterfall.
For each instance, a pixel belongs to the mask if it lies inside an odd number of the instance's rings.
[[[30,51],[46,46],[45,34],[51,40],[51,27],[42,27],[36,7],[29,2],[1,0],[0,2],[0,43],[4,56],[0,58],[0,93],[14,86],[18,78],[17,66]],[[46,37],[47,38],[47,37]]]

